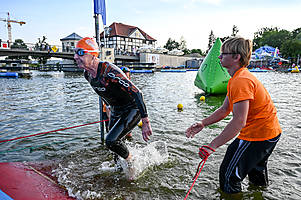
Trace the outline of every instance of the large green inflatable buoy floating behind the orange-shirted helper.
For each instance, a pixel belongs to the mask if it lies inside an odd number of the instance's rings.
[[[203,60],[194,80],[194,85],[202,89],[206,94],[227,93],[227,84],[230,75],[227,72],[227,69],[221,65],[218,58],[221,53],[221,46],[222,42],[217,38]]]

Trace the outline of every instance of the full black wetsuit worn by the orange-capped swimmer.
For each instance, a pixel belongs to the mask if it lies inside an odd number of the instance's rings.
[[[96,78],[84,73],[94,91],[110,105],[111,114],[109,133],[106,136],[107,147],[123,158],[129,151],[121,138],[127,135],[140,121],[147,117],[143,95],[140,90],[115,65],[100,62]]]

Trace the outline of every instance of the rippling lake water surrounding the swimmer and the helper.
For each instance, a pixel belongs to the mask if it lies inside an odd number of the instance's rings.
[[[246,179],[239,199],[301,199],[301,73],[255,75],[272,96],[283,134],[269,160],[269,187],[249,187]],[[101,144],[97,124],[0,143],[0,162],[40,163],[78,199],[184,199],[200,161],[198,147],[231,119],[206,127],[194,139],[185,137],[192,123],[210,115],[224,99],[208,96],[201,102],[195,76],[195,71],[132,75],[144,93],[153,129],[148,144],[139,127],[127,141],[145,164],[135,181],[111,170],[112,155]],[[0,79],[0,91],[0,140],[99,120],[98,96],[81,74],[34,72],[31,79]],[[177,111],[179,103],[182,112]],[[165,152],[155,151],[156,143],[165,144]],[[218,190],[226,147],[209,157],[188,199],[232,198]]]

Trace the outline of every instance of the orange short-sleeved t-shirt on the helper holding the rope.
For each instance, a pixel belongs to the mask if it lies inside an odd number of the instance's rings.
[[[227,86],[230,109],[233,104],[249,100],[246,126],[238,135],[247,141],[264,141],[281,133],[277,110],[262,83],[245,67],[239,69]]]

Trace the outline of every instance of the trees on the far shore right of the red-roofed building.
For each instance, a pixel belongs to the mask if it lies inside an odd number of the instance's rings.
[[[230,37],[237,36],[238,32],[238,27],[233,25],[231,35],[221,37],[220,39],[223,42]],[[206,51],[202,51],[201,49],[187,49],[186,41],[184,40],[183,36],[181,37],[180,42],[169,38],[164,48],[170,51],[173,49],[179,49],[182,50],[185,55],[191,53],[199,53],[200,55],[204,56],[206,53],[208,53],[215,40],[216,37],[213,31],[211,30],[208,38],[208,48]],[[301,28],[297,28],[291,32],[284,29],[280,29],[278,27],[261,28],[254,33],[253,45],[254,50],[264,45],[272,46],[274,48],[278,47],[283,57],[295,61],[298,55],[301,55]]]

